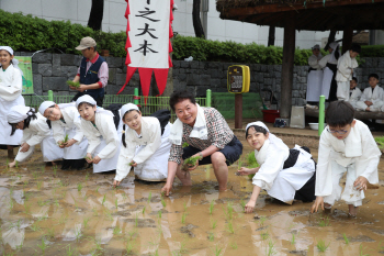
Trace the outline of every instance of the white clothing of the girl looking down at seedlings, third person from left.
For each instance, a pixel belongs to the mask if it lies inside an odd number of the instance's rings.
[[[68,140],[74,138],[77,141],[72,146],[64,148],[63,158],[82,159],[87,155],[88,141],[87,138],[83,140],[81,119],[75,102],[71,104],[58,104],[58,107],[60,108],[63,120],[50,121],[56,143],[64,141],[66,134],[68,134]]]

